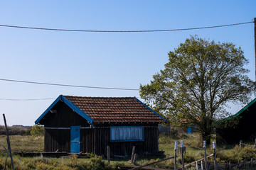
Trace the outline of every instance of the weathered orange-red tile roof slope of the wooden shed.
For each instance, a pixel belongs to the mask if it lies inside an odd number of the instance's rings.
[[[78,97],[64,96],[89,115],[95,123],[162,123],[164,119],[132,97]]]

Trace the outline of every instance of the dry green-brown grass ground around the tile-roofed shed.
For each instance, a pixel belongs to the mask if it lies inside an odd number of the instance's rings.
[[[159,150],[163,150],[166,157],[174,155],[174,142],[183,140],[184,147],[186,147],[185,162],[193,162],[196,159],[203,157],[202,144],[198,134],[186,135],[160,135],[159,136]],[[33,137],[31,135],[10,136],[12,152],[43,152],[43,137]],[[6,160],[6,152],[3,145],[7,148],[6,136],[0,135],[0,169],[4,168]],[[230,149],[231,148],[231,149]],[[238,162],[238,160],[250,160],[256,159],[256,149],[252,149],[251,146],[244,148],[233,146],[229,149],[225,147],[217,148],[217,160],[218,162]],[[211,154],[212,149],[207,149],[207,154]],[[149,162],[155,162],[163,157],[139,157],[137,159],[138,165],[147,164]],[[107,164],[107,160],[102,157],[90,155],[89,159],[77,159],[76,157],[70,158],[47,158],[47,157],[19,157],[14,155],[15,169],[117,169],[120,165],[129,165],[129,157],[126,159],[111,159],[111,164]],[[178,158],[178,162],[181,159]],[[155,167],[173,167],[174,161],[169,160],[154,164]],[[7,169],[11,169],[11,161],[7,159]]]

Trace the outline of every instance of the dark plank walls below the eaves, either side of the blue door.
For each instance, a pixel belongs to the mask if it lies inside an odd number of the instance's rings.
[[[107,145],[110,154],[129,155],[136,146],[137,154],[156,153],[158,147],[158,129],[156,126],[145,126],[144,141],[140,142],[110,142],[110,127],[80,130],[81,152],[107,155]],[[70,152],[70,129],[46,129],[45,152]]]

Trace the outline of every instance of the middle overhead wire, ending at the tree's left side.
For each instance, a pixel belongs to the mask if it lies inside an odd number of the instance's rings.
[[[70,85],[70,84],[52,84],[52,83],[23,81],[23,80],[14,80],[14,79],[0,79],[0,81],[12,81],[12,82],[26,83],[26,84],[43,84],[43,85],[50,85],[50,86],[68,86],[68,87],[79,87],[79,88],[90,88],[90,89],[139,91],[139,89],[126,89],[126,88],[100,87],[100,86],[78,86],[78,85]]]

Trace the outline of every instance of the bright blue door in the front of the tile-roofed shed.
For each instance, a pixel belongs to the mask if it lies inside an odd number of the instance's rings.
[[[71,126],[71,153],[80,152],[80,126]]]

